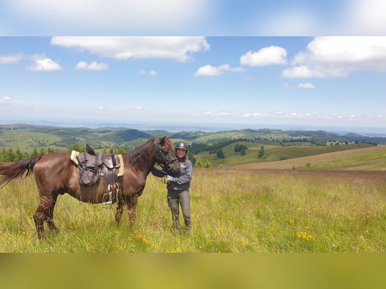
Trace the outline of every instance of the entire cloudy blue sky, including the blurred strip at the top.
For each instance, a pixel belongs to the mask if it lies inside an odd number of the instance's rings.
[[[386,128],[386,2],[237,4],[2,2],[0,122]]]

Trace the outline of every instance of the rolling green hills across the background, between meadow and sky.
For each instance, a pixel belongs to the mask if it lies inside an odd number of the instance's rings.
[[[367,153],[363,151],[366,148],[369,149],[369,152],[372,149],[373,153],[379,150],[381,154],[383,146],[377,145],[386,144],[386,137],[367,137],[355,133],[341,135],[321,130],[242,129],[211,133],[203,131],[170,133],[166,130],[140,131],[124,127],[65,128],[8,124],[0,125],[0,150],[12,148],[30,154],[36,148],[63,151],[76,143],[82,145],[88,143],[96,151],[111,147],[122,147],[126,151],[131,151],[147,139],[163,135],[168,135],[173,141],[181,139],[187,141],[190,145],[191,157],[201,158],[203,161],[208,160],[213,167],[235,168],[242,166],[247,168],[276,166],[280,168],[303,168],[304,166],[315,168],[319,161],[327,158],[329,154],[335,154],[334,156],[338,156],[338,159],[342,159],[349,154],[349,151]],[[237,144],[247,148],[243,154],[234,152]],[[263,146],[265,155],[259,157]],[[223,152],[222,158],[216,154],[218,150]],[[363,160],[358,159],[357,161],[361,166],[365,165]],[[339,166],[349,167],[348,163],[347,161],[345,166],[340,163]],[[307,166],[307,164],[310,165]],[[323,166],[326,167],[326,163],[324,164]],[[379,164],[378,167],[381,165]]]

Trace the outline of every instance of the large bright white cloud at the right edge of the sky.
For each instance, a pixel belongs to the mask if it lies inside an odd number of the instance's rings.
[[[386,37],[315,37],[295,55],[285,78],[347,77],[354,71],[386,71]]]

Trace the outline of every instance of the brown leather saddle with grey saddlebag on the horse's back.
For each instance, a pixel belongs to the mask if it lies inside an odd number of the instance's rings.
[[[75,162],[74,155],[75,152],[72,154],[72,160]],[[117,180],[118,176],[123,174],[118,175],[118,170],[121,167],[120,157],[121,155],[115,154],[115,149],[112,150],[111,154],[95,153],[89,144],[86,144],[85,152],[76,155],[80,184],[93,185],[103,176],[103,204],[112,204],[118,201],[119,185]]]

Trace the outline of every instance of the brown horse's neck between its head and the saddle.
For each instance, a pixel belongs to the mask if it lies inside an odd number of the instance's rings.
[[[124,154],[125,166],[145,172],[148,175],[156,163],[156,151],[154,142],[147,142],[142,147],[131,153]]]

